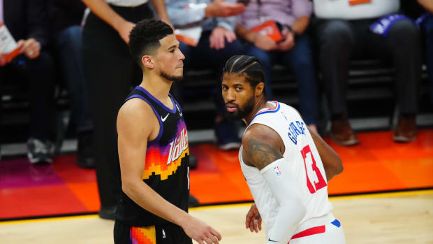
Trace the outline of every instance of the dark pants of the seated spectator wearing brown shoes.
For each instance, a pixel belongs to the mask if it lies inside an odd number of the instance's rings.
[[[421,38],[416,25],[399,20],[383,37],[369,31],[370,20],[318,20],[316,38],[319,65],[325,82],[331,115],[346,115],[348,69],[353,58],[381,58],[395,67],[399,110],[418,111],[418,86],[421,75]]]

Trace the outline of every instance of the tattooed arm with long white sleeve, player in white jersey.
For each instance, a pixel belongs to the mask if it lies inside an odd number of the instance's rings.
[[[280,207],[275,219],[276,228],[270,231],[268,242],[287,243],[295,233],[296,227],[305,215],[305,206],[300,199],[300,192],[295,182],[295,175],[288,170],[288,162],[284,159],[284,143],[277,131],[263,124],[253,124],[242,138],[242,159],[260,170],[272,195],[279,201]],[[274,168],[281,172],[277,175]],[[249,212],[255,212],[251,206]],[[247,216],[249,213],[247,214]],[[254,218],[260,216],[252,214]],[[251,220],[249,223],[251,228]],[[257,223],[258,224],[258,223]],[[278,227],[278,228],[277,228]]]

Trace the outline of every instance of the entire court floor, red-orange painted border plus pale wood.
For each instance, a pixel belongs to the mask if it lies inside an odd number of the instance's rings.
[[[407,144],[393,143],[392,131],[359,138],[349,148],[328,141],[344,162],[328,192],[347,243],[433,243],[433,130]],[[221,204],[252,200],[237,153],[214,145],[191,152],[200,162],[191,171],[191,193],[210,205],[191,208],[191,215],[220,231],[221,243],[265,243],[264,231],[244,227],[251,203]],[[45,168],[2,160],[0,243],[112,243],[113,222],[91,214],[99,208],[94,171],[76,168],[68,155]]]

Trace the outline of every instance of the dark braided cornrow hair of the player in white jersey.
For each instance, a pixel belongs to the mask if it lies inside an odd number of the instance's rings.
[[[248,55],[235,55],[227,60],[223,68],[224,73],[244,73],[245,80],[249,82],[251,87],[255,88],[258,83],[265,83],[265,72],[263,72],[262,64],[256,57]],[[265,88],[263,88],[263,96],[266,98]]]

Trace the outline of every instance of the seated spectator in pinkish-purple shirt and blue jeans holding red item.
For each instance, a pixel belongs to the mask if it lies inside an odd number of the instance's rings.
[[[309,24],[312,3],[309,0],[257,0],[251,1],[237,25],[237,34],[247,41],[246,52],[257,57],[265,70],[267,99],[273,100],[271,82],[272,66],[279,62],[290,67],[298,82],[300,113],[311,129],[317,131],[318,102],[317,80],[311,55],[309,38],[304,33]],[[281,40],[270,33],[253,31],[265,24],[277,25],[272,33],[281,33]]]

